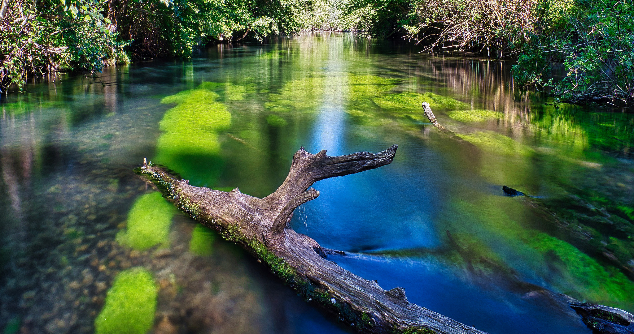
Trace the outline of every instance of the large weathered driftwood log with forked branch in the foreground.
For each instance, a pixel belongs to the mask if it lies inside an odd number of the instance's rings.
[[[275,275],[302,294],[337,314],[362,333],[483,333],[453,319],[408,302],[403,288],[384,290],[328,261],[336,250],[288,226],[293,211],[315,199],[314,182],[372,170],[389,164],[397,145],[372,154],[327,156],[300,149],[293,156],[286,180],[271,195],[259,199],[237,188],[222,192],[193,187],[161,166],[145,164],[136,171],[164,196],[200,223],[242,245]]]

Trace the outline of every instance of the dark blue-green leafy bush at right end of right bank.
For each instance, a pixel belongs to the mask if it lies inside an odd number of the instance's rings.
[[[546,0],[544,0],[546,1]],[[569,101],[634,100],[634,4],[627,0],[575,0],[552,11],[544,31],[531,36],[513,66],[519,84],[551,87]],[[544,78],[562,61],[563,78]]]

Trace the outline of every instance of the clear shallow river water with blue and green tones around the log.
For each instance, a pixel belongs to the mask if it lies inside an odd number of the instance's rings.
[[[191,184],[263,197],[300,146],[399,144],[388,166],[316,183],[295,230],[349,252],[333,261],[353,273],[481,330],[590,333],[536,286],[633,311],[634,284],[500,189],[634,207],[634,115],[545,103],[510,89],[507,67],[302,35],[3,97],[0,326],[93,332],[117,274],[143,267],[158,287],[155,333],[345,333],[189,218],[150,232],[150,248],[122,237],[152,193],[132,169],[148,158]],[[430,127],[422,101],[456,137]]]

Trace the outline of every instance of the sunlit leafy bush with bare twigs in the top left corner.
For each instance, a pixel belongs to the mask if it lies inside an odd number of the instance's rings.
[[[105,6],[100,0],[10,0],[0,20],[0,90],[10,84],[23,89],[30,75],[96,72],[129,61]]]

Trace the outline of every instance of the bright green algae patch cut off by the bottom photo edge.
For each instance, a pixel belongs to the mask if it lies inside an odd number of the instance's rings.
[[[141,267],[115,277],[105,305],[94,321],[96,334],[145,334],[154,324],[157,286],[152,274]]]

